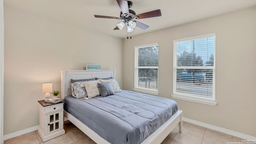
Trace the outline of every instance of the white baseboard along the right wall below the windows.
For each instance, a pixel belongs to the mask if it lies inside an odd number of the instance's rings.
[[[189,118],[182,118],[182,120],[184,122],[189,122],[191,124],[196,124],[198,126],[202,126],[202,127],[205,127],[205,128],[209,128],[209,129],[212,129],[212,130],[216,130],[218,132],[222,132],[222,133],[225,133],[225,134],[229,134],[231,136],[236,136],[238,138],[242,138],[242,139],[245,139],[245,140],[256,140],[256,137],[254,136],[249,136],[249,135],[246,135],[246,134],[242,134],[240,132],[235,132],[235,131],[232,131],[232,130],[228,130],[228,129],[225,129],[225,128],[220,128],[218,126],[213,126],[213,125],[210,125],[210,124],[206,124],[206,123],[203,123],[203,122],[198,122],[196,120],[191,120]]]

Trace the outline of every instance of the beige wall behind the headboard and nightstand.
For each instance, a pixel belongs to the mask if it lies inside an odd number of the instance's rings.
[[[42,84],[60,90],[60,70],[101,64],[122,88],[122,39],[4,6],[4,135],[39,125]]]

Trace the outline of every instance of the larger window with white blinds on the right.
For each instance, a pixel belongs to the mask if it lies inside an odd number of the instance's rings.
[[[215,106],[215,34],[173,42],[173,98]]]

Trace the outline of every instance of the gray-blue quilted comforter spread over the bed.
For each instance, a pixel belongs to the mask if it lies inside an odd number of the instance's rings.
[[[125,90],[64,101],[64,110],[112,144],[139,144],[178,110],[173,100]]]

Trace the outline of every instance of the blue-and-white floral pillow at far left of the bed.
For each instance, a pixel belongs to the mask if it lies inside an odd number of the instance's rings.
[[[75,98],[88,97],[83,82],[74,82],[71,84],[72,96]]]

